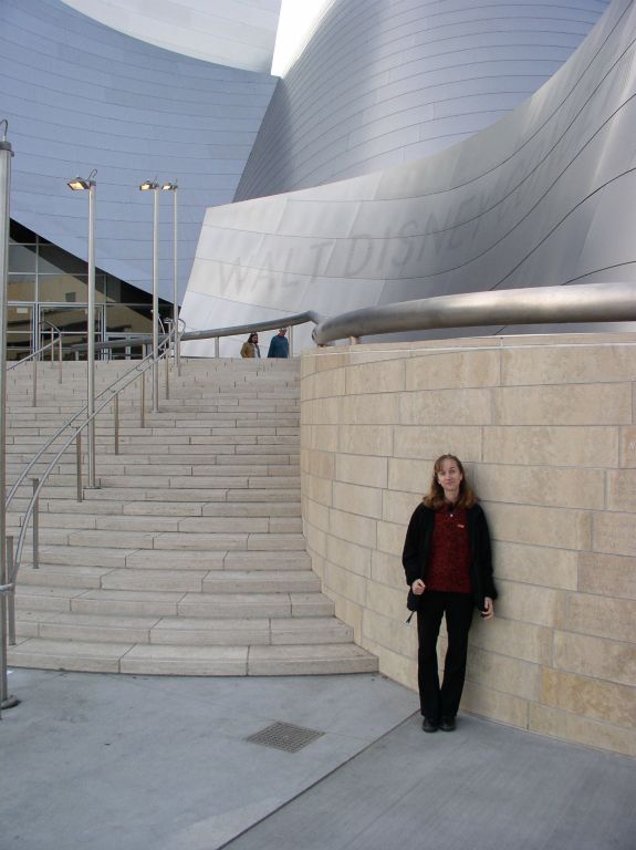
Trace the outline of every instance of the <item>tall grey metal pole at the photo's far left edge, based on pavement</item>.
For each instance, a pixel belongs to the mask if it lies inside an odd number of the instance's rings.
[[[11,157],[7,142],[9,124],[0,122],[0,584],[9,584],[7,564],[7,282],[9,279],[9,221],[11,196]],[[35,365],[33,365],[35,369]],[[7,591],[0,593],[0,709],[15,705],[7,681]]]

